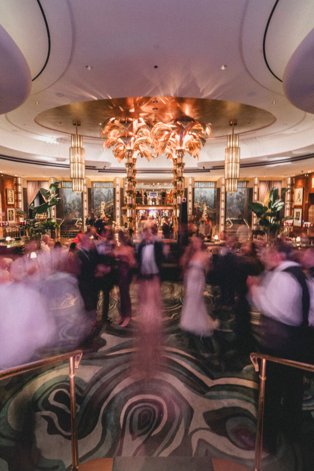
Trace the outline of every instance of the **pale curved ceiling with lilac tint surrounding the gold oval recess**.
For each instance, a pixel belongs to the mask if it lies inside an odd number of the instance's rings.
[[[11,108],[0,116],[1,170],[67,176],[69,127],[78,119],[78,107],[72,104],[99,100],[101,106],[100,100],[122,97],[238,103],[239,116],[233,118],[238,119],[246,162],[241,176],[314,170],[314,116],[298,109],[293,97],[287,99],[281,82],[290,57],[314,27],[313,10],[313,2],[306,0],[2,2],[0,24],[25,58],[32,89],[24,103],[12,96]],[[27,79],[21,83],[26,84],[26,98]],[[244,129],[245,106],[269,114],[271,122]],[[9,111],[12,108],[16,109]],[[49,114],[54,114],[53,125],[40,120]],[[87,111],[80,115],[82,129],[85,118],[90,122],[93,116]],[[200,161],[187,158],[185,169],[191,176],[223,175],[225,135],[230,129],[226,120],[218,132],[218,118],[219,110],[210,119],[213,138],[202,148]],[[124,171],[111,149],[103,151],[100,132],[98,137],[87,134],[84,147],[88,176]],[[302,155],[306,159],[300,160]],[[143,178],[164,179],[171,166],[164,156],[137,162]]]

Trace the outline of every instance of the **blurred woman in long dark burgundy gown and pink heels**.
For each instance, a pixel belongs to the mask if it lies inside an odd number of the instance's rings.
[[[118,259],[118,285],[120,290],[120,317],[116,324],[126,327],[131,320],[132,307],[130,298],[131,269],[135,264],[134,249],[128,244],[123,232],[119,232],[119,247],[116,248]]]

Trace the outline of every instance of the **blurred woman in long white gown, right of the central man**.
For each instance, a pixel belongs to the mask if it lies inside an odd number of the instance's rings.
[[[200,337],[211,337],[219,321],[207,313],[204,302],[205,275],[209,268],[207,252],[200,237],[192,237],[181,260],[184,272],[185,300],[180,328]]]

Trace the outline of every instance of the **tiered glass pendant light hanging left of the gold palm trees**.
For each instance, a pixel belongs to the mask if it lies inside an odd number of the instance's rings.
[[[77,133],[80,121],[73,121],[76,133],[71,135],[70,147],[70,178],[72,179],[72,191],[79,194],[84,190],[85,181],[85,150],[83,149],[83,137]]]

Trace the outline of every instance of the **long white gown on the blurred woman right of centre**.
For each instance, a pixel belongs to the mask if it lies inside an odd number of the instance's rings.
[[[201,337],[211,337],[219,321],[208,314],[204,302],[205,271],[201,262],[191,261],[184,277],[185,300],[180,328]]]

